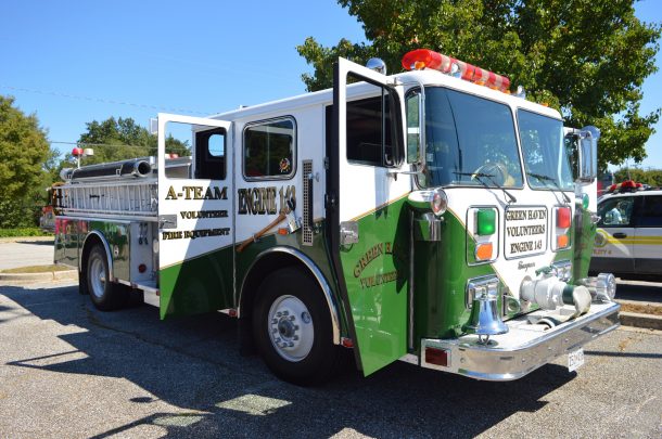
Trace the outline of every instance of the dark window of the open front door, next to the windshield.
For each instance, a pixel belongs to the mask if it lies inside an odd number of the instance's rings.
[[[370,166],[395,166],[397,134],[392,95],[347,102],[347,160]]]

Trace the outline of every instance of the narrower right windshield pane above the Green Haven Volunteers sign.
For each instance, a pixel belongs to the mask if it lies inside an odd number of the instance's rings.
[[[563,142],[563,122],[518,109],[524,170],[533,189],[573,190],[572,172]]]

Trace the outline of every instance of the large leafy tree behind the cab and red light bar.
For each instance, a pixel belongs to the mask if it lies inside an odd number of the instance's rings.
[[[559,109],[565,125],[602,132],[600,168],[646,157],[660,109],[639,112],[644,79],[657,70],[660,24],[641,23],[635,0],[339,0],[362,23],[369,43],[342,39],[297,47],[311,64],[309,91],[332,86],[338,56],[379,56],[400,72],[402,56],[429,48],[504,74],[527,99]]]

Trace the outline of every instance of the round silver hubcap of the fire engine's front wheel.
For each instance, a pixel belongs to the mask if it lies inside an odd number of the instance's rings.
[[[269,308],[269,337],[279,356],[288,361],[305,359],[315,340],[308,308],[294,296],[280,296]]]

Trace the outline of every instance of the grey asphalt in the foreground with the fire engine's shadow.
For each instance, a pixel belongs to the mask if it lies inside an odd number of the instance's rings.
[[[395,363],[318,388],[240,357],[235,321],[102,313],[69,284],[0,286],[0,437],[662,435],[662,334],[619,330],[511,383]]]

